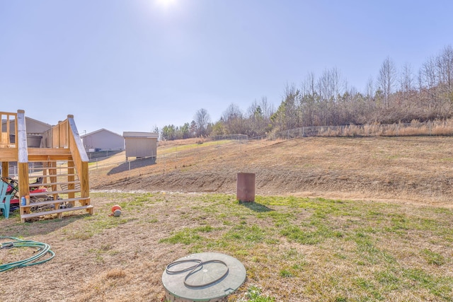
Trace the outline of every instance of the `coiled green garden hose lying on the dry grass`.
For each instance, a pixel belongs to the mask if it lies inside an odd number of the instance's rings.
[[[47,243],[40,243],[38,241],[33,241],[33,240],[21,240],[19,238],[14,238],[14,237],[0,236],[0,240],[6,239],[6,238],[12,239],[14,241],[7,242],[7,243],[0,243],[0,250],[7,249],[7,248],[23,248],[23,247],[38,248],[38,250],[36,252],[34,252],[34,255],[32,257],[30,257],[28,259],[0,265],[0,272],[6,272],[6,271],[8,271],[10,269],[14,269],[16,267],[30,267],[32,265],[40,265],[41,263],[51,260],[55,256],[55,252],[52,252],[52,250],[50,250],[50,245],[48,245]],[[41,257],[43,257],[47,254],[49,254],[47,258],[45,258],[44,260],[40,260]]]

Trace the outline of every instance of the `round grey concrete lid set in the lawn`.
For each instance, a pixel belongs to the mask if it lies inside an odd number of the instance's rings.
[[[198,265],[197,260],[207,263],[190,272],[188,268]],[[246,280],[246,268],[242,263],[218,252],[192,254],[175,262],[162,274],[162,283],[168,294],[176,298],[190,301],[223,298],[236,291]]]

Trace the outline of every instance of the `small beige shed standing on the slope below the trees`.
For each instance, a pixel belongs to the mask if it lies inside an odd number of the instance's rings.
[[[122,132],[125,138],[126,161],[130,157],[157,156],[157,139],[159,134],[153,132]]]

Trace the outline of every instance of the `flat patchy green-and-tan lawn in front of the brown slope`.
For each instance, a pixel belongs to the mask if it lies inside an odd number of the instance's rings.
[[[223,252],[246,267],[229,301],[453,301],[453,211],[417,204],[231,194],[93,193],[93,216],[1,236],[56,256],[1,274],[1,301],[162,301],[168,263]],[[120,204],[120,217],[108,216]],[[0,250],[2,264],[29,251]]]

